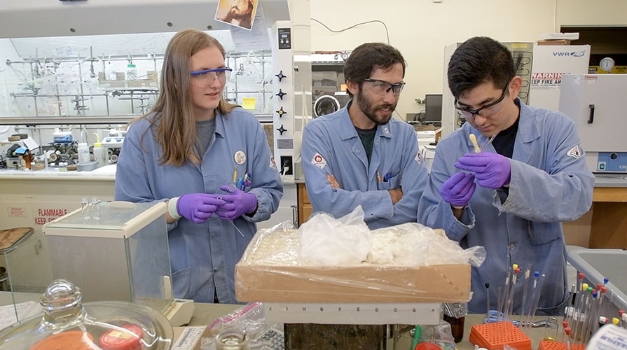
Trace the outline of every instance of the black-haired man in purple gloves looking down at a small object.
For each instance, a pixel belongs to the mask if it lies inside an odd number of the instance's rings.
[[[545,275],[539,314],[563,313],[561,222],[579,218],[592,204],[594,176],[574,123],[563,113],[525,105],[518,99],[522,83],[511,52],[491,38],[470,38],[448,64],[455,109],[467,123],[437,145],[418,220],[443,228],[463,248],[485,247],[485,262],[472,269],[472,313],[486,312],[486,290],[490,308],[497,309],[497,288],[485,283],[502,286],[513,264]],[[475,153],[470,134],[483,144],[481,152]],[[515,314],[531,309],[523,279],[518,274],[514,285]]]

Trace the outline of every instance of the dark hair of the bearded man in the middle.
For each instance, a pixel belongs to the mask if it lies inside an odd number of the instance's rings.
[[[364,79],[370,78],[375,69],[387,71],[399,63],[403,65],[405,76],[406,62],[399,50],[385,43],[364,43],[352,50],[346,59],[344,80],[350,80],[361,87]],[[348,94],[352,97],[350,91]]]

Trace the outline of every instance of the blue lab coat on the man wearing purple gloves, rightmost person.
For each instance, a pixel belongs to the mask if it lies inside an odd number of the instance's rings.
[[[507,267],[518,264],[524,271],[545,274],[539,313],[555,314],[566,297],[565,243],[561,221],[573,221],[590,209],[594,176],[586,166],[575,125],[563,113],[521,106],[520,122],[511,163],[509,195],[504,190],[476,187],[460,221],[439,189],[460,172],[455,162],[474,150],[469,134],[478,144],[485,137],[469,123],[439,142],[429,184],[418,207],[418,220],[446,235],[463,248],[484,246],[488,256],[472,269],[469,311],[485,313],[485,283],[490,283],[491,309],[497,309],[497,290],[505,283]],[[487,152],[496,152],[492,145]],[[533,279],[533,276],[530,277]],[[522,280],[522,281],[521,281]],[[520,314],[523,272],[518,274],[514,312]],[[531,288],[530,288],[531,289]],[[530,306],[530,297],[525,301]],[[544,310],[542,310],[544,309]],[[525,311],[526,312],[526,311]]]

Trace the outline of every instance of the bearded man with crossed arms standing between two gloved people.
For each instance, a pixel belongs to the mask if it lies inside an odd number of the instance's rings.
[[[314,212],[336,218],[357,206],[369,228],[416,221],[427,183],[411,125],[392,119],[405,60],[383,43],[364,43],[344,64],[352,100],[305,126],[301,158]]]

